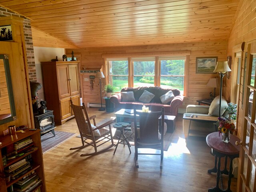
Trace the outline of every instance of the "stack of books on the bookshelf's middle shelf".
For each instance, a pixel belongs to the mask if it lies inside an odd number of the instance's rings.
[[[10,175],[11,179],[17,179],[26,172],[28,172],[31,168],[32,166],[30,165],[30,162],[27,161],[26,158],[24,158],[8,166],[8,168],[6,168],[4,172],[6,172],[7,175]]]

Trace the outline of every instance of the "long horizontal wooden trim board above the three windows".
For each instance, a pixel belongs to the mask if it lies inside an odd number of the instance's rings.
[[[144,56],[179,56],[190,55],[190,50],[185,51],[164,51],[164,52],[142,52],[142,53],[116,53],[102,54],[102,58],[123,58],[123,57],[144,57]]]

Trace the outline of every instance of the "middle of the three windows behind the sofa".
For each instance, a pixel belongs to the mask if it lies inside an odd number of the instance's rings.
[[[133,84],[138,86],[154,86],[155,58],[132,58]]]

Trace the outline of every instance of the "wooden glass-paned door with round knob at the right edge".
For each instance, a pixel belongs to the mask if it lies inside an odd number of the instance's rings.
[[[256,43],[248,45],[238,192],[256,191]]]

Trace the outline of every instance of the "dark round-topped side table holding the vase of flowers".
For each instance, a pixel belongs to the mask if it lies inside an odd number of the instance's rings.
[[[232,178],[232,162],[234,158],[239,157],[239,150],[240,147],[236,146],[236,141],[239,141],[240,139],[237,136],[230,135],[230,142],[229,143],[224,143],[219,137],[219,132],[213,132],[208,134],[206,137],[206,143],[210,148],[212,148],[212,154],[215,156],[215,165],[213,169],[208,170],[208,173],[215,172],[217,169],[217,178],[216,178],[216,187],[208,189],[208,192],[220,192],[220,191],[227,191],[227,192],[232,192],[230,190],[230,184],[231,184],[231,178]],[[224,170],[220,171],[220,159],[222,157],[225,157],[225,168]],[[229,172],[226,169],[226,162],[227,158],[230,158],[230,166],[229,166]],[[217,164],[217,159],[218,159],[218,168],[216,167]],[[221,190],[219,188],[219,180],[220,180],[220,174],[228,174],[228,188],[226,190]]]

